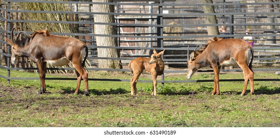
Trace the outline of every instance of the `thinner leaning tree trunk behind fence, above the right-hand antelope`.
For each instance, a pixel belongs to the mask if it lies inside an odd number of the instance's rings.
[[[204,4],[213,3],[212,0],[202,0]],[[204,13],[215,13],[214,6],[203,6]],[[206,24],[217,24],[215,15],[205,17]],[[207,26],[208,35],[220,35],[218,26]]]

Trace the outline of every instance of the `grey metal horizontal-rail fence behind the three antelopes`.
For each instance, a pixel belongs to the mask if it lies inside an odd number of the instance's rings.
[[[140,2],[81,2],[81,1],[37,1],[37,0],[4,0],[0,6],[0,46],[3,49],[7,43],[4,35],[11,34],[11,28],[17,23],[65,23],[78,25],[78,33],[51,32],[54,35],[71,35],[85,42],[90,49],[88,60],[91,64],[96,64],[96,60],[122,60],[126,66],[135,57],[149,57],[149,52],[155,48],[157,50],[166,49],[163,60],[166,65],[172,67],[186,67],[187,53],[191,53],[194,47],[204,46],[209,38],[221,37],[222,35],[207,35],[206,26],[228,26],[227,37],[240,39],[244,37],[246,28],[252,29],[252,34],[247,36],[255,37],[255,59],[254,65],[264,64],[274,66],[266,68],[256,68],[254,71],[280,71],[280,2],[265,3],[213,3],[213,4],[192,4],[180,2],[168,2],[170,0],[152,0]],[[74,5],[71,11],[43,11],[43,10],[22,10],[15,9],[14,5],[21,2],[52,3]],[[93,4],[115,5],[114,13],[92,12]],[[204,13],[203,6],[213,5],[216,13]],[[18,14],[42,13],[42,14],[71,14],[78,15],[78,21],[40,21],[40,19],[21,20],[15,18]],[[95,23],[93,15],[104,14],[114,15],[116,23]],[[218,24],[205,24],[205,16],[215,15]],[[117,35],[97,35],[94,33],[94,24],[116,25]],[[17,33],[17,32],[15,32]],[[27,31],[28,34],[32,32]],[[95,36],[117,37],[118,46],[96,46]],[[7,49],[10,47],[7,45]],[[117,48],[122,51],[119,58],[98,57],[95,52],[99,48]],[[188,51],[188,49],[190,51]],[[18,78],[10,77],[10,70],[36,70],[37,68],[13,68],[10,66],[9,50],[0,52],[1,56],[8,58],[6,65],[0,68],[7,70],[7,74],[0,74],[0,77],[8,80],[16,79],[39,79],[39,78]],[[260,65],[261,66],[261,65]],[[50,70],[73,70],[74,68],[48,68]],[[112,68],[86,68],[86,70],[108,70],[108,71],[129,71]],[[198,72],[209,72],[210,69],[198,70]],[[221,71],[242,71],[241,69],[222,69]],[[186,70],[165,70],[164,73],[186,73]],[[46,78],[57,79],[57,78]],[[76,80],[76,78],[61,78],[66,80]],[[105,81],[126,81],[127,79],[96,79]],[[221,81],[243,81],[244,79],[227,79]],[[182,80],[166,81],[164,75],[159,83],[173,82],[210,82],[213,80]],[[255,79],[255,81],[280,81],[280,79]],[[152,82],[142,80],[139,82]]]

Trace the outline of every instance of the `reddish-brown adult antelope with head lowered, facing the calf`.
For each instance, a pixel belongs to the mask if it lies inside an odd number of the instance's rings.
[[[195,49],[196,50],[196,49]],[[214,38],[204,47],[193,51],[188,61],[187,79],[202,67],[211,67],[214,71],[214,89],[212,94],[220,94],[219,74],[221,66],[239,66],[243,70],[245,85],[241,95],[245,94],[250,80],[251,94],[254,93],[254,72],[252,68],[253,47],[239,39]]]

